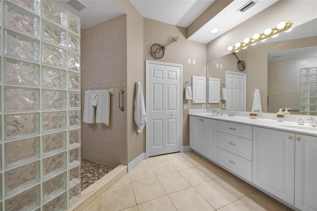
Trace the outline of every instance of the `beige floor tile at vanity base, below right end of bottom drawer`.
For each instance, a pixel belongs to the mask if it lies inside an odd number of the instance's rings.
[[[233,174],[228,174],[215,180],[231,193],[236,195],[239,199],[258,190]]]

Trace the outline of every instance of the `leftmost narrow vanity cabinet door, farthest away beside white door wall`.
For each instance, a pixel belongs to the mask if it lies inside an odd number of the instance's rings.
[[[201,153],[201,118],[196,116],[189,117],[189,147]]]

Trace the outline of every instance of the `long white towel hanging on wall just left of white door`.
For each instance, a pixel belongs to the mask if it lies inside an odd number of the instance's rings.
[[[137,125],[138,133],[142,133],[142,130],[147,123],[147,113],[145,110],[143,90],[140,81],[135,84],[134,122]]]

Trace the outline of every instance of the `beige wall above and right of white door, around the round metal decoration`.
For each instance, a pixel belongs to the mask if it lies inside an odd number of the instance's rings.
[[[160,59],[151,56],[150,49],[153,44],[165,45],[172,37],[178,37],[177,43],[172,43],[165,49],[165,54]],[[187,64],[187,59],[191,64]],[[191,76],[206,76],[206,44],[186,40],[186,29],[159,21],[144,18],[144,59],[162,62],[177,63],[183,65],[183,91],[185,81],[191,81]],[[196,64],[192,64],[192,60]],[[144,87],[145,89],[145,87]],[[184,99],[183,105],[187,108],[202,108],[202,104],[191,104]],[[183,110],[183,146],[189,145],[189,118],[188,110]]]

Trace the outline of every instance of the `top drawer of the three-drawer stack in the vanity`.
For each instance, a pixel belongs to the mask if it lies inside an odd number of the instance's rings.
[[[252,139],[252,126],[250,125],[218,121],[218,131]]]

